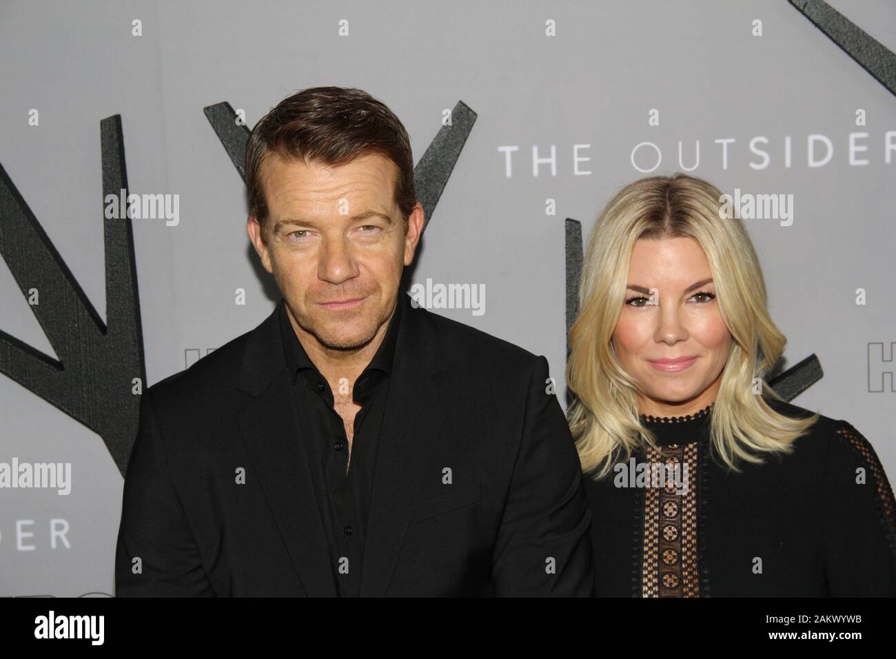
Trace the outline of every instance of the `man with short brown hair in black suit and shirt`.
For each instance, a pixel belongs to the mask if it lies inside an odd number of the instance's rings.
[[[590,510],[547,360],[411,303],[408,135],[360,90],[280,102],[247,230],[283,299],[151,386],[118,595],[591,595]]]

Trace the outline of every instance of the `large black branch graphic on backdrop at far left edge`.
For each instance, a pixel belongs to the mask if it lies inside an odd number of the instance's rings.
[[[99,129],[105,199],[127,189],[121,117]],[[146,377],[131,221],[103,212],[103,236],[106,323],[0,165],[0,253],[22,294],[37,291],[31,310],[59,356],[0,331],[0,371],[96,432],[125,473],[140,409],[133,381]]]

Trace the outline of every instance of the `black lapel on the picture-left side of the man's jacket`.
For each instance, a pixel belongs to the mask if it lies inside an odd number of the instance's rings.
[[[317,483],[312,481],[305,443],[282,351],[278,313],[246,340],[237,385],[253,400],[237,412],[246,444],[289,559],[311,597],[338,594],[323,522],[317,507]],[[251,478],[251,472],[249,474]]]

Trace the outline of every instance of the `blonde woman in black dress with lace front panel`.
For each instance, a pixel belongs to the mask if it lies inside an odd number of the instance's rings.
[[[894,595],[883,467],[847,421],[763,381],[786,339],[720,199],[644,178],[591,232],[566,377],[598,594]]]

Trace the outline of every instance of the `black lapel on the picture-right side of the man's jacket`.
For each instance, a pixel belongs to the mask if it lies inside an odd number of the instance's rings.
[[[367,520],[362,597],[383,597],[395,570],[411,507],[433,447],[444,429],[447,367],[438,327],[428,311],[403,309],[376,454]]]

